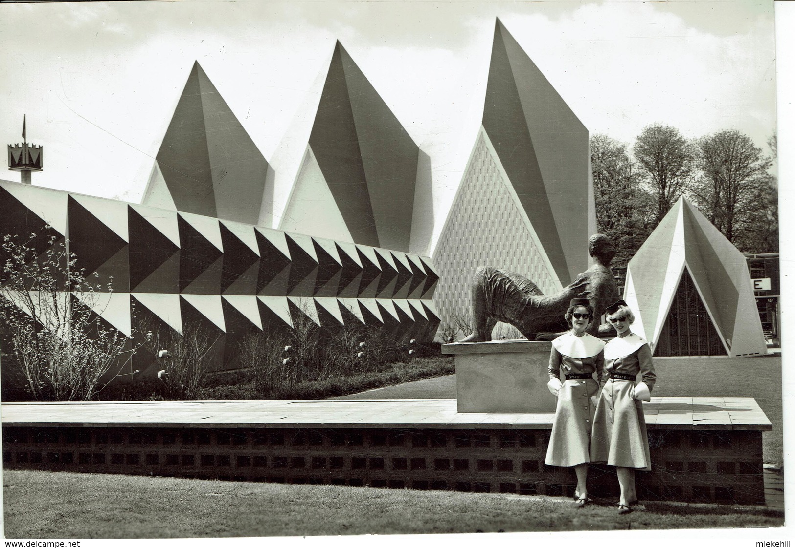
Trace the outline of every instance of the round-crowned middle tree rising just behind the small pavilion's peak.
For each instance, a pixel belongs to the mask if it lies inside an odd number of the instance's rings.
[[[657,201],[657,226],[679,197],[692,185],[696,147],[679,130],[660,123],[643,129],[632,148],[643,181]]]

